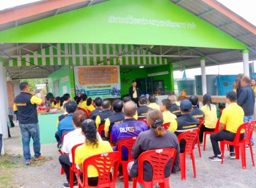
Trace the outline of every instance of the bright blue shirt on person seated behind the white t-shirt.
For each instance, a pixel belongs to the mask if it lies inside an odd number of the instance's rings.
[[[72,124],[72,116],[73,116],[73,114],[69,114],[69,115],[67,115],[66,118],[64,118],[63,120],[61,120],[61,122],[59,122],[58,133],[59,133],[59,138],[61,139],[61,141],[62,141],[63,134],[65,134],[66,132],[75,130],[75,128]]]

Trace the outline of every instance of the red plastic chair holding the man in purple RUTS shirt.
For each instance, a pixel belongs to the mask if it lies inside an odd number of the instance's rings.
[[[119,152],[123,153],[123,146],[125,146],[125,148],[127,148],[128,150],[128,160],[122,160],[120,161],[120,163],[123,165],[123,183],[125,188],[129,188],[129,174],[128,174],[128,170],[127,170],[127,166],[128,163],[133,161],[134,158],[131,156],[131,150],[133,148],[133,145],[136,141],[137,137],[131,137],[131,138],[127,138],[127,139],[123,139],[120,140],[117,143],[117,150],[119,150]]]

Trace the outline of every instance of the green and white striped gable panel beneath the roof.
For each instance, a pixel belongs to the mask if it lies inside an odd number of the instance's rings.
[[[166,58],[149,52],[149,49],[150,46],[129,44],[54,44],[11,59],[5,66],[168,64]]]

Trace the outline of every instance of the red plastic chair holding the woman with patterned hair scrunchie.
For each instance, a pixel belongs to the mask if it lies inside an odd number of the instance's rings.
[[[174,158],[176,156],[177,150],[174,148],[162,148],[156,150],[148,150],[139,155],[139,168],[138,176],[133,178],[133,188],[137,187],[137,182],[144,185],[145,188],[152,188],[155,183],[159,183],[160,187],[170,187],[170,176],[164,177],[164,169],[167,162],[172,158],[172,164],[170,165],[170,171],[172,170],[172,165]],[[143,162],[150,162],[153,168],[152,181],[143,180]]]

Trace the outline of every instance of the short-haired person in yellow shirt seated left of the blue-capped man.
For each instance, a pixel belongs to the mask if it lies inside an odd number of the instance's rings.
[[[170,123],[177,118],[176,115],[174,115],[173,113],[170,113],[171,105],[172,105],[172,103],[171,103],[170,99],[163,99],[160,104],[160,111],[162,111],[162,115],[164,117],[163,124]]]

